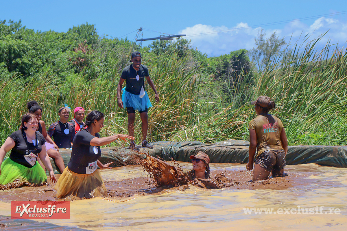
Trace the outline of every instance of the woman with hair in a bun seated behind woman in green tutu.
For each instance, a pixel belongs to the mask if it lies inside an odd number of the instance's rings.
[[[46,124],[41,120],[42,108],[35,100],[29,101],[27,103],[27,107],[28,107],[29,113],[34,114],[36,116],[36,118],[39,120],[39,127],[37,128],[37,131],[40,132],[43,135],[43,137],[45,137],[45,140],[47,141],[47,142],[45,142],[47,154],[49,157],[51,157],[53,159],[54,164],[57,167],[57,170],[60,173],[62,173],[62,171],[65,168],[64,160],[59,153],[59,148],[58,148],[57,144],[54,143],[52,138],[47,134]],[[37,162],[39,162],[41,167],[43,168],[43,170],[45,170],[44,165],[42,164],[40,158],[37,159]]]

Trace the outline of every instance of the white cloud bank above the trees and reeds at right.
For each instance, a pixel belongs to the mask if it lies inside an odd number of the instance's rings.
[[[208,56],[219,56],[243,48],[252,49],[255,46],[254,38],[257,37],[261,29],[264,29],[267,38],[273,32],[276,32],[279,38],[284,37],[287,42],[291,37],[290,43],[298,42],[300,44],[306,35],[310,36],[309,40],[313,40],[324,33],[327,35],[321,39],[319,44],[321,46],[324,46],[328,41],[344,46],[347,40],[347,22],[325,17],[316,19],[311,25],[305,24],[304,21],[293,20],[282,28],[273,26],[269,29],[268,27],[250,28],[244,22],[231,28],[223,25],[214,27],[197,24],[181,30],[179,34],[186,34],[185,38],[191,39],[193,46],[202,53],[206,53]]]

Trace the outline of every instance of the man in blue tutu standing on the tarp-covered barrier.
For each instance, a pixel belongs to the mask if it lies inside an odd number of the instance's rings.
[[[155,101],[159,102],[159,95],[155,89],[154,83],[149,77],[149,71],[147,66],[142,65],[141,53],[133,52],[131,54],[131,60],[133,64],[126,66],[119,79],[117,87],[117,98],[118,106],[120,108],[127,109],[128,113],[128,134],[134,136],[134,122],[135,122],[135,110],[140,113],[142,121],[142,147],[152,149],[153,146],[147,142],[147,131],[148,131],[148,108],[152,107],[151,101],[145,91],[145,81],[146,78],[148,84],[154,91]],[[122,85],[126,80],[126,87],[122,89]],[[123,90],[123,94],[120,97],[120,90]],[[132,140],[130,142],[131,149],[135,148],[135,142]]]

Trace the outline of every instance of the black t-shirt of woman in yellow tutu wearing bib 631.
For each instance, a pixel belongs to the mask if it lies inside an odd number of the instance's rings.
[[[78,174],[88,174],[86,171],[88,166],[93,162],[96,162],[101,157],[100,146],[90,145],[90,141],[94,137],[100,137],[99,133],[95,133],[95,136],[90,134],[88,130],[83,129],[76,133],[71,158],[68,163],[68,168]],[[96,163],[95,163],[96,164]]]

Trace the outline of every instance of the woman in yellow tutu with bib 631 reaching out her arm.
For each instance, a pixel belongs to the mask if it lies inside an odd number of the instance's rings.
[[[84,129],[85,127],[87,128]],[[118,134],[100,138],[102,127],[104,114],[97,110],[90,112],[82,130],[74,137],[70,161],[54,187],[57,198],[77,199],[108,195],[97,168],[111,168],[109,165],[113,162],[103,165],[98,160],[101,157],[100,146],[117,139],[133,140],[135,137]]]

